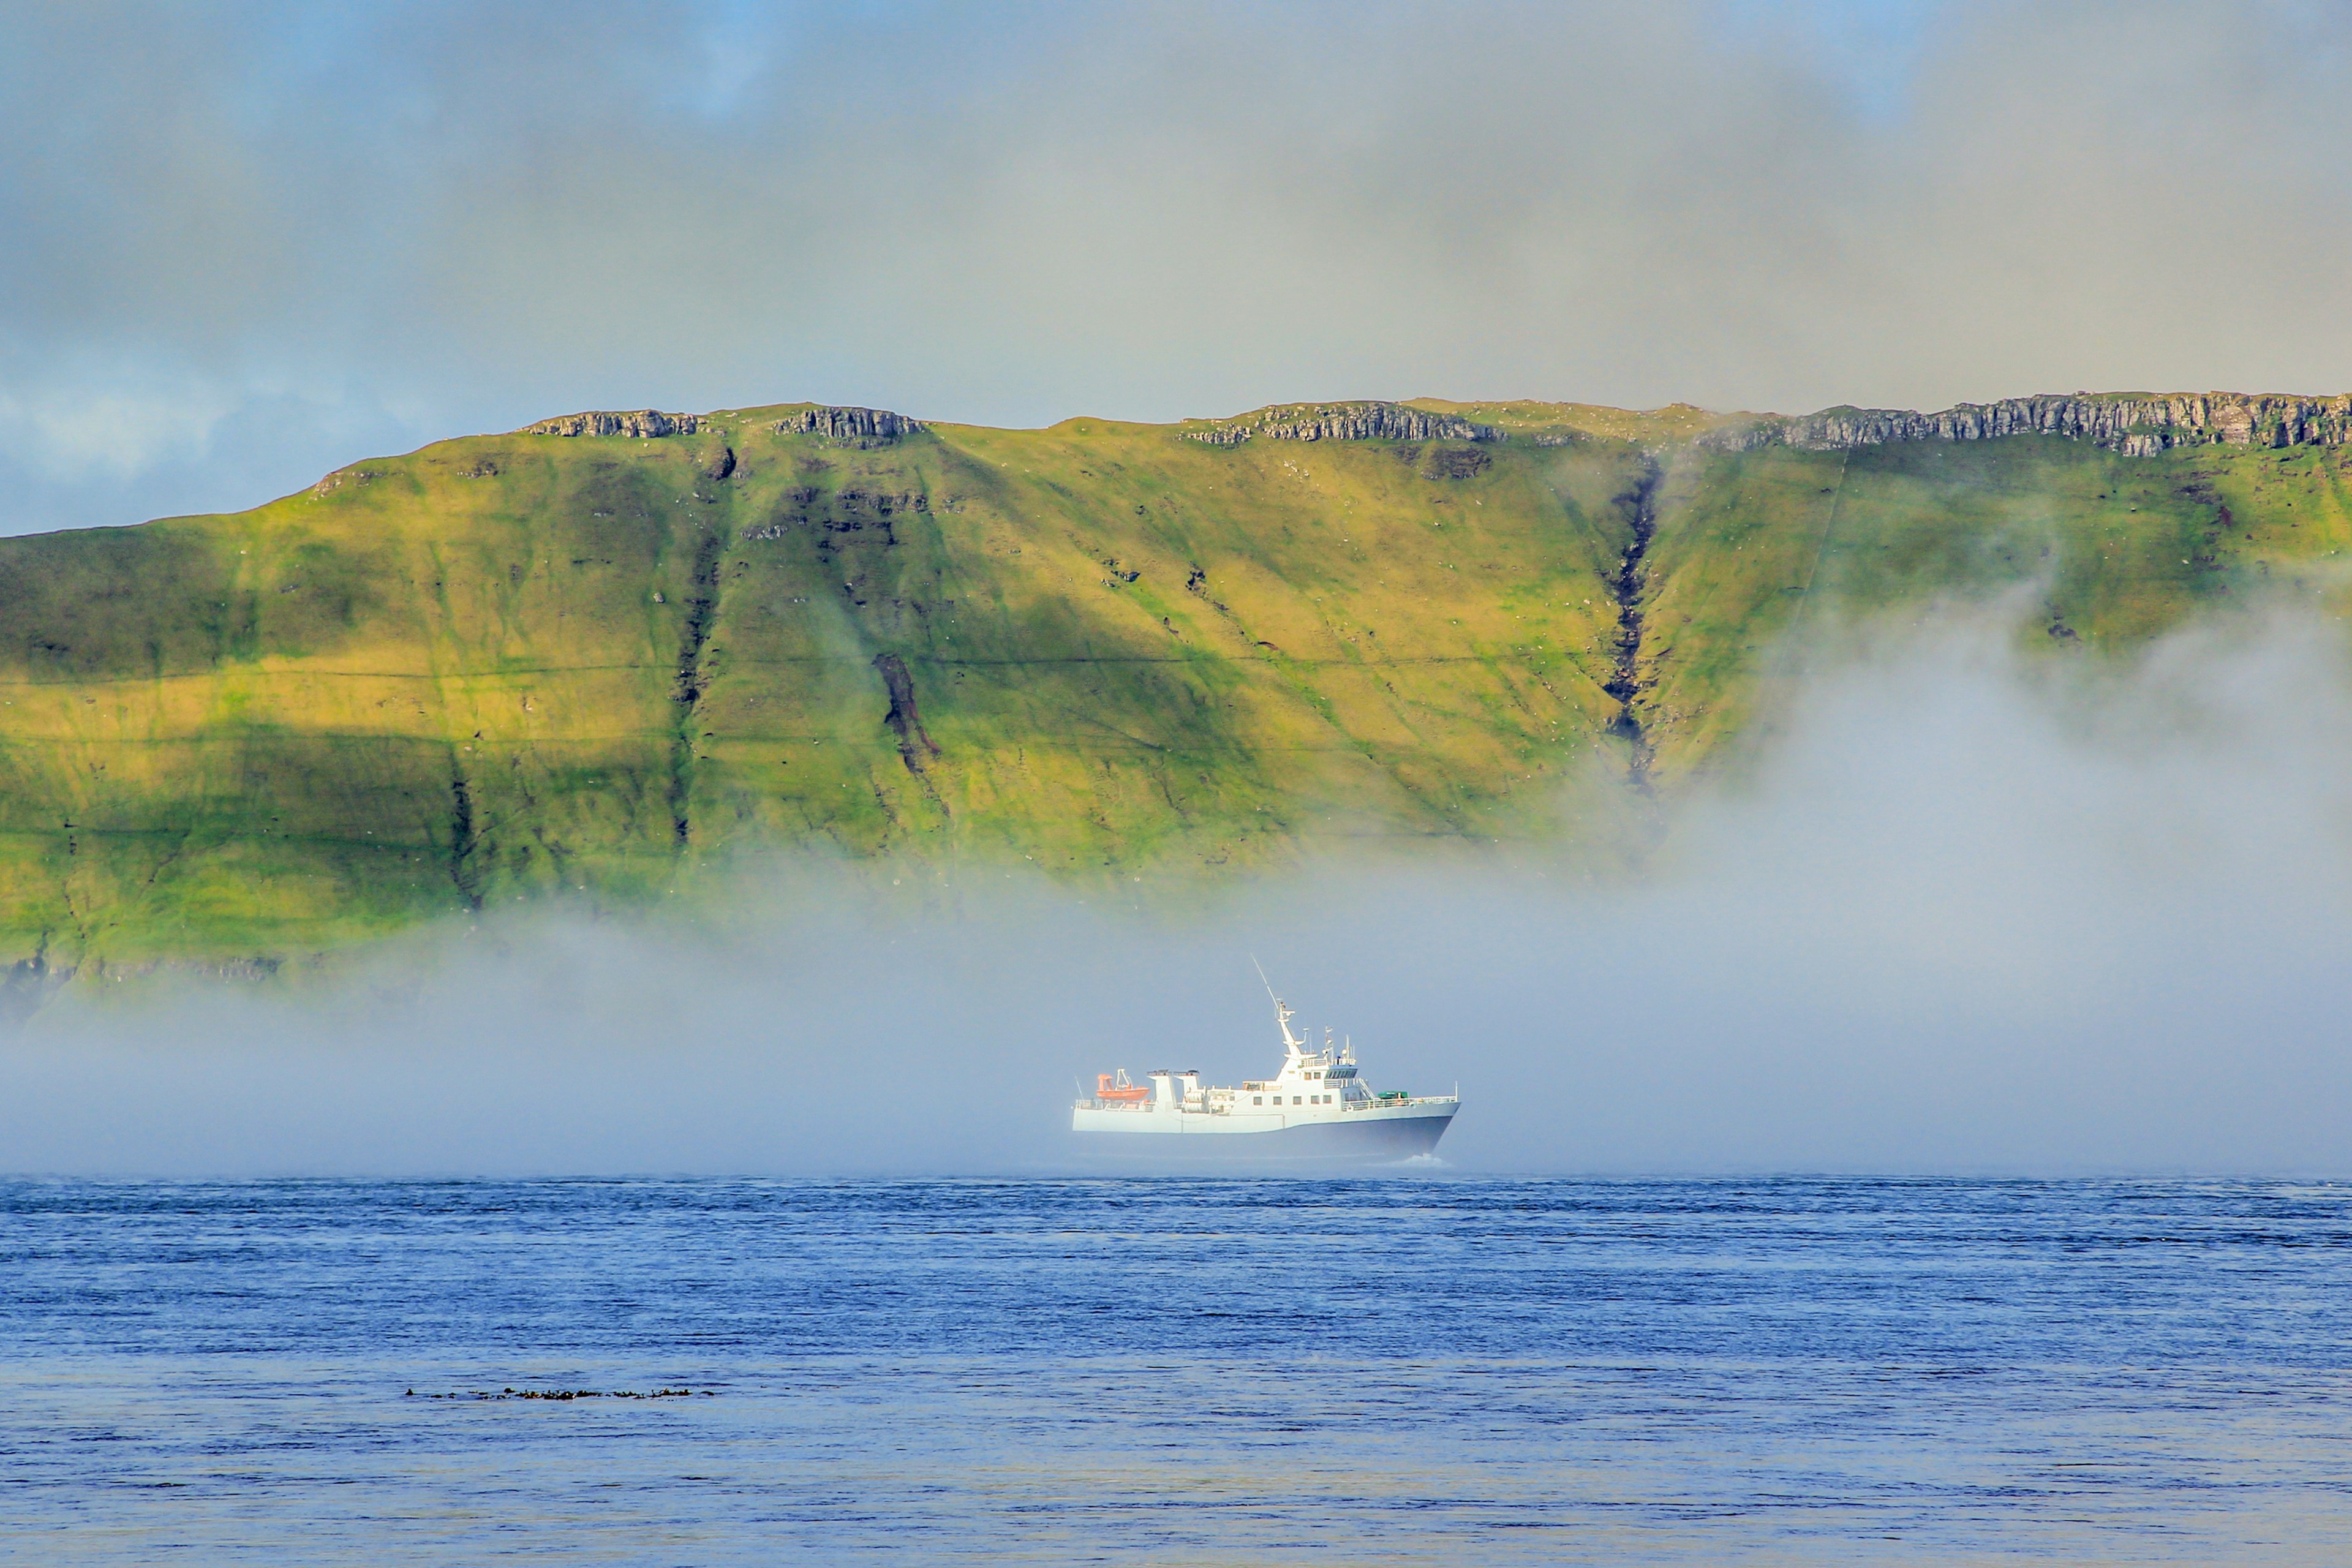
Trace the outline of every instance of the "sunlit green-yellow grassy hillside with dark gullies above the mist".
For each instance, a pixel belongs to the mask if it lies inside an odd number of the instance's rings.
[[[1564,778],[1670,790],[1790,637],[2037,583],[2079,654],[2333,595],[2352,543],[2343,447],[1411,407],[1456,435],[743,409],[0,541],[7,957],[301,952],[774,844],[1101,875],[1573,832]]]

